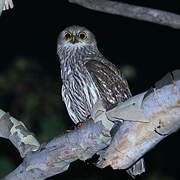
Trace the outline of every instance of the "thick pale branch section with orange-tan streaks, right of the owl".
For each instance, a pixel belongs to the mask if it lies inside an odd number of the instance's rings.
[[[107,112],[109,119],[125,121],[101,155],[100,167],[126,169],[180,128],[179,79],[179,70],[169,73],[155,84],[156,88]]]

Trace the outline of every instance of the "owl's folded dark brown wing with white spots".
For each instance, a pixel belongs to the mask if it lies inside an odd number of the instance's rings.
[[[85,64],[105,107],[123,102],[131,96],[128,83],[119,69],[107,60],[89,60]]]

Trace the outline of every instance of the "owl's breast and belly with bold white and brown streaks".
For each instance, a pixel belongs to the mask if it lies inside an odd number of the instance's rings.
[[[72,61],[75,62],[76,60],[73,59]],[[74,123],[85,121],[100,97],[83,63],[80,60],[71,63],[63,69],[62,73],[62,77],[64,77],[62,96],[69,116]]]

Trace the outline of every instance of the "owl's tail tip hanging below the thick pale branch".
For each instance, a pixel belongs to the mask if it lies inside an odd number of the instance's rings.
[[[135,164],[133,164],[128,170],[127,173],[135,178],[135,176],[140,175],[142,173],[145,172],[145,163],[144,163],[144,159],[140,159],[139,161],[137,161]]]

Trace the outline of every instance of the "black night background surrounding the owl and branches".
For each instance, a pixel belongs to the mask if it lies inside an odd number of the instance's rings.
[[[124,1],[180,14],[176,1]],[[65,27],[78,24],[94,32],[104,56],[132,76],[132,93],[147,90],[167,72],[179,69],[180,31],[157,24],[95,12],[65,0],[14,1],[0,17],[0,108],[22,120],[41,142],[72,126],[61,100],[56,41]],[[146,156],[147,173],[137,179],[180,179],[179,133]],[[21,163],[16,149],[1,140],[0,175]],[[124,171],[74,162],[49,179],[131,179]]]

